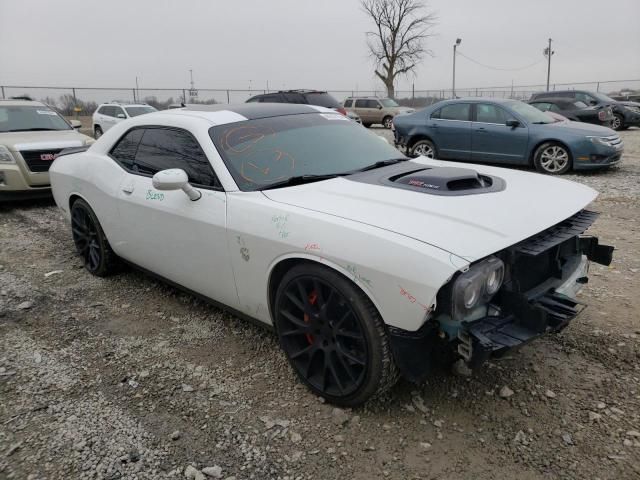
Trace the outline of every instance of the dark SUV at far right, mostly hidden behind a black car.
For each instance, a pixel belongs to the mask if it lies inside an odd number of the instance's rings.
[[[613,120],[611,128],[614,130],[625,130],[632,126],[640,126],[640,103],[618,101],[599,92],[589,92],[587,90],[554,90],[552,92],[538,92],[531,95],[531,101],[539,102],[543,99],[551,98],[575,98],[587,105],[603,106],[608,105],[613,109]]]

